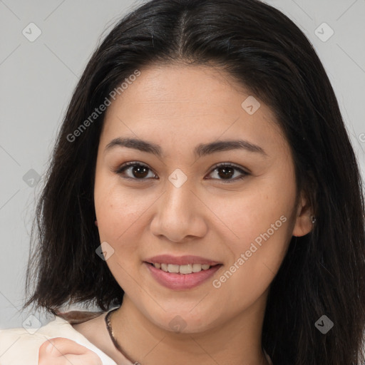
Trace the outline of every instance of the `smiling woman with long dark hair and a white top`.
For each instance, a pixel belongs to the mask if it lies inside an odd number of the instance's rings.
[[[125,16],[76,86],[37,218],[24,308],[56,320],[2,331],[1,365],[16,346],[27,364],[364,361],[359,168],[317,54],[267,4]],[[101,312],[60,312],[76,303]]]

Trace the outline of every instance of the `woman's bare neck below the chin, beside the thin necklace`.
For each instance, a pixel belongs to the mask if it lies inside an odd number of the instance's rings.
[[[174,359],[175,365],[268,365],[261,349],[266,294],[225,324],[198,333],[176,333],[159,327],[125,294],[111,325],[123,354],[142,365],[163,364],[166,359]]]

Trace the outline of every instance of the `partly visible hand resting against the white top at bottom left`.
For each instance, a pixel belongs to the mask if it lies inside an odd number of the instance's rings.
[[[48,347],[49,346],[49,347]],[[71,339],[55,337],[39,348],[38,365],[103,365],[101,358]]]

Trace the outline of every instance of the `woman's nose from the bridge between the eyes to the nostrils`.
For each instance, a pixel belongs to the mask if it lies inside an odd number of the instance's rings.
[[[207,208],[192,190],[189,179],[180,187],[170,181],[157,200],[150,229],[153,235],[170,242],[187,242],[201,238],[207,232]]]

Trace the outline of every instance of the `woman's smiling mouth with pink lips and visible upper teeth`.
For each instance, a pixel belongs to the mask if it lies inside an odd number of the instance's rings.
[[[148,273],[163,287],[186,290],[197,287],[217,272],[222,263],[197,256],[160,255],[147,259]]]

